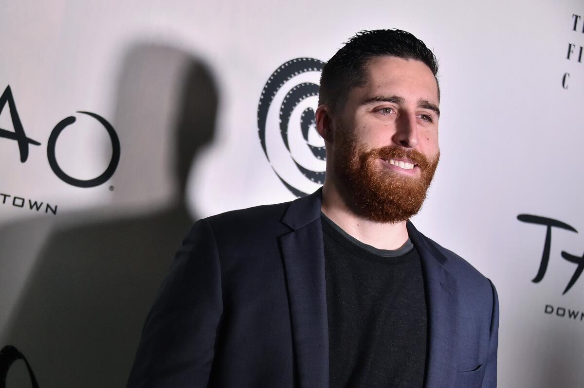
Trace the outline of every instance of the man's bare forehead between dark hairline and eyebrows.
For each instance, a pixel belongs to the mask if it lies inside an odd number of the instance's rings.
[[[366,65],[366,83],[359,94],[420,98],[438,104],[438,85],[427,65],[418,60],[398,57],[374,57]]]

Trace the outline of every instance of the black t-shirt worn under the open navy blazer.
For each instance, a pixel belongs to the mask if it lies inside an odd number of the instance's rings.
[[[423,384],[427,311],[420,256],[361,243],[322,216],[330,386]]]

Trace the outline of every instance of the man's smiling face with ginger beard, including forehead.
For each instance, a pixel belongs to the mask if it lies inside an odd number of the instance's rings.
[[[335,120],[335,175],[361,214],[396,223],[418,213],[440,156],[438,88],[416,60],[376,57]]]

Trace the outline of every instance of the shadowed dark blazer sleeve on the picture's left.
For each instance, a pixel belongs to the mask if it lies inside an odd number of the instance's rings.
[[[207,386],[222,298],[217,244],[201,219],[176,253],[148,313],[127,387]]]

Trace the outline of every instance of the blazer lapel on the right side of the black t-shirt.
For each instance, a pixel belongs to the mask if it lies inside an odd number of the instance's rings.
[[[456,378],[458,299],[456,278],[444,268],[446,257],[411,222],[408,235],[420,254],[426,300],[429,341],[426,351],[425,388],[451,387]]]

